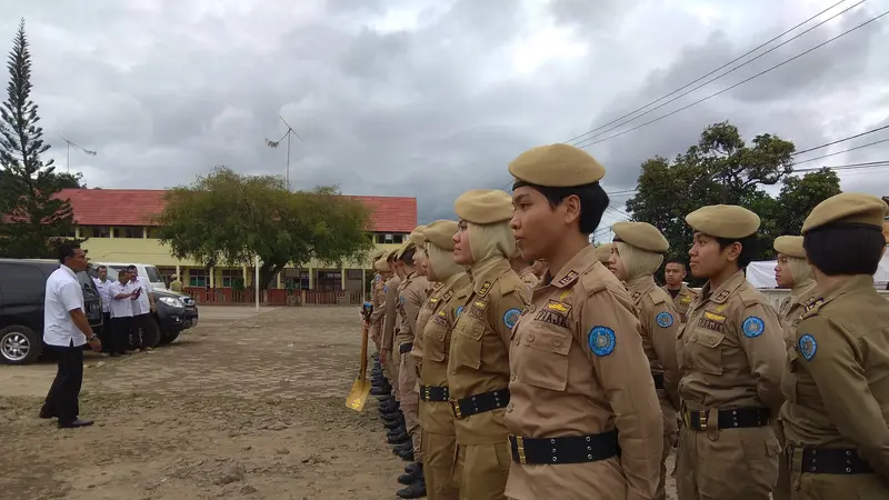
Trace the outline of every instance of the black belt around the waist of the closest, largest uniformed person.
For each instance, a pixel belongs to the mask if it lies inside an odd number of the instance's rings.
[[[586,463],[620,453],[617,430],[567,438],[522,438],[509,434],[512,461],[518,463]]]

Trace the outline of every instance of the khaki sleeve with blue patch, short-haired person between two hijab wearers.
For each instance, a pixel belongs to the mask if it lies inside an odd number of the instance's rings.
[[[757,379],[757,394],[777,418],[785,397],[781,392],[787,349],[783,329],[771,306],[755,302],[740,313],[738,342],[747,354],[750,371]]]

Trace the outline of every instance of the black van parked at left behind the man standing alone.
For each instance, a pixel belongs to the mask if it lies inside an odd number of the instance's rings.
[[[49,260],[0,259],[0,362],[28,364],[43,352],[43,299],[47,278],[59,269]],[[77,273],[87,319],[102,324],[99,290],[86,272]]]

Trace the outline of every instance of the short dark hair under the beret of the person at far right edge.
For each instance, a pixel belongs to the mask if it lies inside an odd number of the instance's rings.
[[[802,237],[809,262],[827,276],[872,276],[883,247],[882,229],[870,224],[828,224]]]

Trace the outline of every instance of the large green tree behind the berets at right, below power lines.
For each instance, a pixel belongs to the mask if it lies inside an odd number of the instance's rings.
[[[645,161],[627,211],[663,232],[670,257],[687,259],[692,231],[686,216],[708,204],[739,204],[762,219],[755,258],[770,258],[773,238],[798,234],[811,209],[840,192],[839,178],[828,169],[790,176],[793,151],[792,142],[772,134],[757,136],[747,144],[735,126],[716,123],[673,161]],[[762,190],[779,182],[783,186],[777,198]]]

